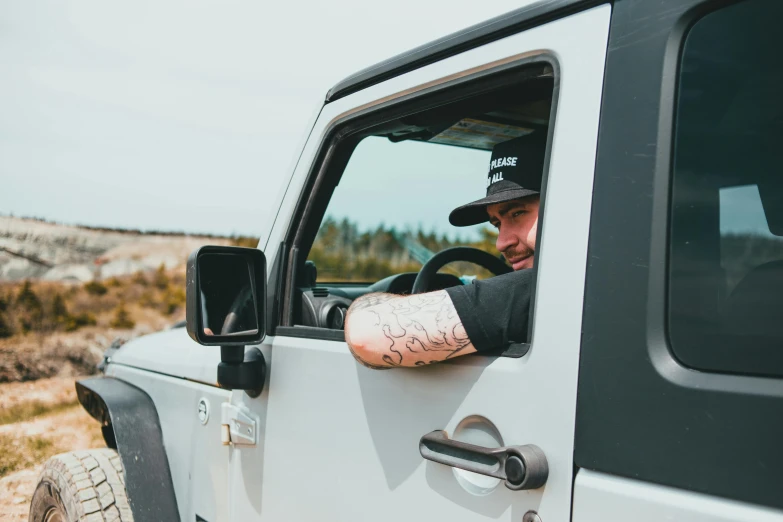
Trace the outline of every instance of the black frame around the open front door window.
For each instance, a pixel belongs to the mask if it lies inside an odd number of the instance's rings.
[[[362,108],[352,112],[343,118],[334,121],[321,141],[316,160],[303,184],[300,198],[297,202],[292,219],[285,235],[284,244],[281,245],[282,253],[275,265],[277,273],[273,269],[273,277],[279,277],[275,282],[281,296],[279,306],[275,306],[272,312],[274,321],[273,331],[275,335],[299,337],[307,339],[321,339],[329,341],[345,341],[345,333],[342,330],[330,330],[308,326],[294,326],[294,296],[296,292],[297,271],[299,265],[305,259],[301,252],[309,251],[320,227],[323,216],[331,200],[331,191],[336,186],[328,182],[334,177],[342,176],[343,171],[353,154],[358,143],[365,136],[371,135],[371,129],[383,122],[392,121],[406,114],[421,112],[435,105],[445,105],[477,94],[491,92],[493,90],[508,88],[514,83],[523,83],[529,76],[530,66],[534,64],[548,65],[553,72],[552,104],[550,107],[550,119],[547,129],[546,159],[541,184],[541,203],[539,215],[544,215],[546,204],[546,186],[549,174],[549,162],[551,155],[552,136],[554,125],[557,121],[557,107],[560,94],[560,66],[554,53],[547,50],[537,51],[521,58],[489,67],[456,79],[446,78],[436,84],[428,84],[426,87],[400,96],[393,100],[382,101],[377,105]],[[328,197],[324,196],[327,194]],[[536,251],[541,248],[543,237],[543,220],[539,220]],[[534,270],[537,270],[537,265]],[[530,323],[535,311],[535,276],[531,295]],[[270,282],[270,288],[272,283]],[[270,303],[271,304],[271,303]],[[278,303],[274,303],[277,305]],[[501,355],[508,357],[521,357],[530,348],[532,328],[528,333],[528,342],[512,344],[507,349],[498,352],[486,352],[484,355]]]

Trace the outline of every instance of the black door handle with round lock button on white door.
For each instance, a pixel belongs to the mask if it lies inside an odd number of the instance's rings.
[[[541,448],[532,444],[484,448],[449,439],[443,430],[424,435],[419,453],[427,460],[505,481],[508,489],[536,489],[546,484],[549,465]]]

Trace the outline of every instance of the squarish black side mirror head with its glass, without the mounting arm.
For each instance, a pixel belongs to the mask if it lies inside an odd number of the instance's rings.
[[[266,257],[255,248],[203,246],[188,257],[188,335],[205,346],[258,344],[266,335]]]

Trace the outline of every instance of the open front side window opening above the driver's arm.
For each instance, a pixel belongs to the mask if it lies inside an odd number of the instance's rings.
[[[546,62],[520,65],[514,80],[498,78],[490,77],[492,90],[479,88],[489,82],[485,78],[464,84],[470,95],[453,87],[429,98],[424,108],[416,103],[415,111],[406,112],[402,104],[392,107],[394,116],[379,113],[377,123],[346,133],[334,145],[331,157],[336,159],[322,170],[322,192],[313,197],[322,206],[318,215],[314,210],[302,220],[309,237],[294,245],[307,254],[292,292],[293,325],[342,329],[354,299],[370,292],[411,293],[422,266],[453,247],[490,255],[459,251],[437,274],[419,278],[422,291],[512,270],[484,207],[462,207],[488,197],[508,202],[497,194],[503,191],[519,194],[518,199],[529,196],[518,205],[525,208],[508,210],[509,216],[521,223],[526,218],[517,216],[535,213],[528,228],[538,230],[537,198],[555,81]],[[495,159],[506,150],[527,152]],[[520,176],[530,176],[525,183],[532,190],[520,190]],[[528,212],[528,206],[534,210]],[[452,211],[458,207],[455,217]],[[536,237],[532,232],[501,250],[519,266],[532,265],[535,248],[525,245]],[[468,261],[476,258],[483,266]]]

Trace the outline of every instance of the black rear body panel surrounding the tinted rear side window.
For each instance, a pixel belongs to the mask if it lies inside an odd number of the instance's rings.
[[[671,352],[666,327],[680,57],[698,19],[737,2],[614,4],[590,220],[574,462],[780,509],[783,380],[687,368]]]

